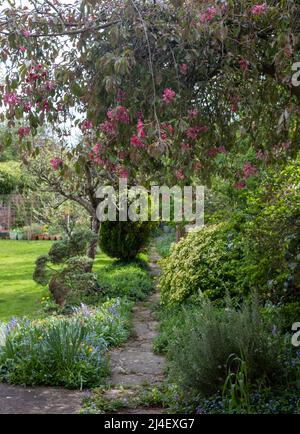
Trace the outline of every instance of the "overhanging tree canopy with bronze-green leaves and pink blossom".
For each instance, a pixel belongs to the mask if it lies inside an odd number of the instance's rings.
[[[64,148],[57,179],[187,184],[219,173],[243,189],[299,149],[298,1],[10,4],[2,116],[22,119],[20,147],[33,155],[32,137],[52,125]]]

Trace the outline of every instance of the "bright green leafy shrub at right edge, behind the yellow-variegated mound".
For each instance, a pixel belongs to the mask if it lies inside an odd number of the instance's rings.
[[[296,300],[300,291],[299,158],[248,197],[244,282],[273,303]]]

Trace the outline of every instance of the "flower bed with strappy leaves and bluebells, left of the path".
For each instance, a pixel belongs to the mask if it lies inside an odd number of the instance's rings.
[[[70,317],[13,319],[0,346],[0,378],[12,384],[93,387],[107,374],[106,349],[129,335],[132,305],[113,299]]]

